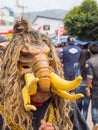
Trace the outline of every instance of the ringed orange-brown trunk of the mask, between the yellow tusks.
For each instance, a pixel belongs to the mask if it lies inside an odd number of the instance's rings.
[[[46,54],[37,54],[33,57],[35,77],[39,78],[38,86],[41,91],[50,91],[50,69]]]

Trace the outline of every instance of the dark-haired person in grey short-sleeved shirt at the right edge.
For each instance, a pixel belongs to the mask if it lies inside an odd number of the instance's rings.
[[[86,62],[87,68],[87,96],[91,96],[91,114],[94,125],[93,130],[98,130],[98,44],[88,46],[90,59]]]

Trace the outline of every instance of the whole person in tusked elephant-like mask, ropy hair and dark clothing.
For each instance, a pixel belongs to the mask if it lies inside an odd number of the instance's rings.
[[[25,19],[16,21],[0,76],[1,130],[89,130],[70,101],[83,95],[68,93],[81,81],[64,80],[51,40]]]

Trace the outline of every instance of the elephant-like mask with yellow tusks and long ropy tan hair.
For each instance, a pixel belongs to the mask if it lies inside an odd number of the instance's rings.
[[[62,65],[53,43],[46,35],[30,28],[27,21],[17,21],[13,32],[0,75],[0,99],[11,128],[32,130],[30,110],[36,110],[36,105],[31,100],[40,103],[53,97],[56,108],[62,104],[65,113],[65,102],[69,102],[66,100],[83,96],[68,93],[79,86],[82,78],[63,79]]]

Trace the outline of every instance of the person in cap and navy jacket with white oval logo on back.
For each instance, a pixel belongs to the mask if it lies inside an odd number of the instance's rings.
[[[73,80],[75,78],[74,63],[78,62],[81,49],[74,45],[72,37],[67,38],[67,44],[62,52],[64,77],[66,80]]]

